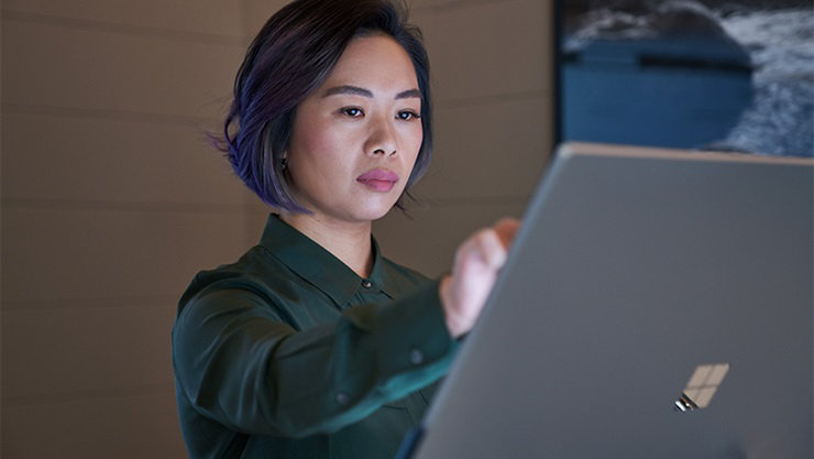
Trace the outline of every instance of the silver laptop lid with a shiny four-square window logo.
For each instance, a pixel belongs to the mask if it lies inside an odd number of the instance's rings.
[[[417,459],[812,458],[814,160],[571,143]]]

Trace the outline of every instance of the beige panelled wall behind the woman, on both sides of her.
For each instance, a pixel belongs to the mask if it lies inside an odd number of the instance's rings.
[[[280,0],[2,2],[2,450],[180,458],[175,302],[256,241],[266,210],[202,140]],[[549,2],[414,0],[436,160],[414,220],[376,225],[429,274],[520,215],[550,143]]]

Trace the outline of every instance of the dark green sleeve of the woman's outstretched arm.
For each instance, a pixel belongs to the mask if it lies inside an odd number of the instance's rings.
[[[336,431],[435,382],[455,346],[438,282],[302,331],[261,295],[231,288],[205,291],[182,310],[173,363],[200,414],[248,434],[300,438]]]

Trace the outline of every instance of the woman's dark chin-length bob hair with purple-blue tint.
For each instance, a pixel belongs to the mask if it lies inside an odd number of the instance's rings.
[[[420,31],[406,23],[407,8],[396,0],[296,0],[274,14],[246,52],[234,80],[234,101],[223,125],[234,172],[266,204],[308,212],[290,193],[284,153],[297,106],[333,69],[348,43],[385,34],[407,52],[421,92],[424,142],[396,207],[427,170],[432,155],[429,61]]]

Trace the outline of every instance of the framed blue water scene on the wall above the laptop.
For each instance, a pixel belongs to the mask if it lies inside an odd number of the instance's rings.
[[[810,0],[562,0],[560,139],[814,156]]]

